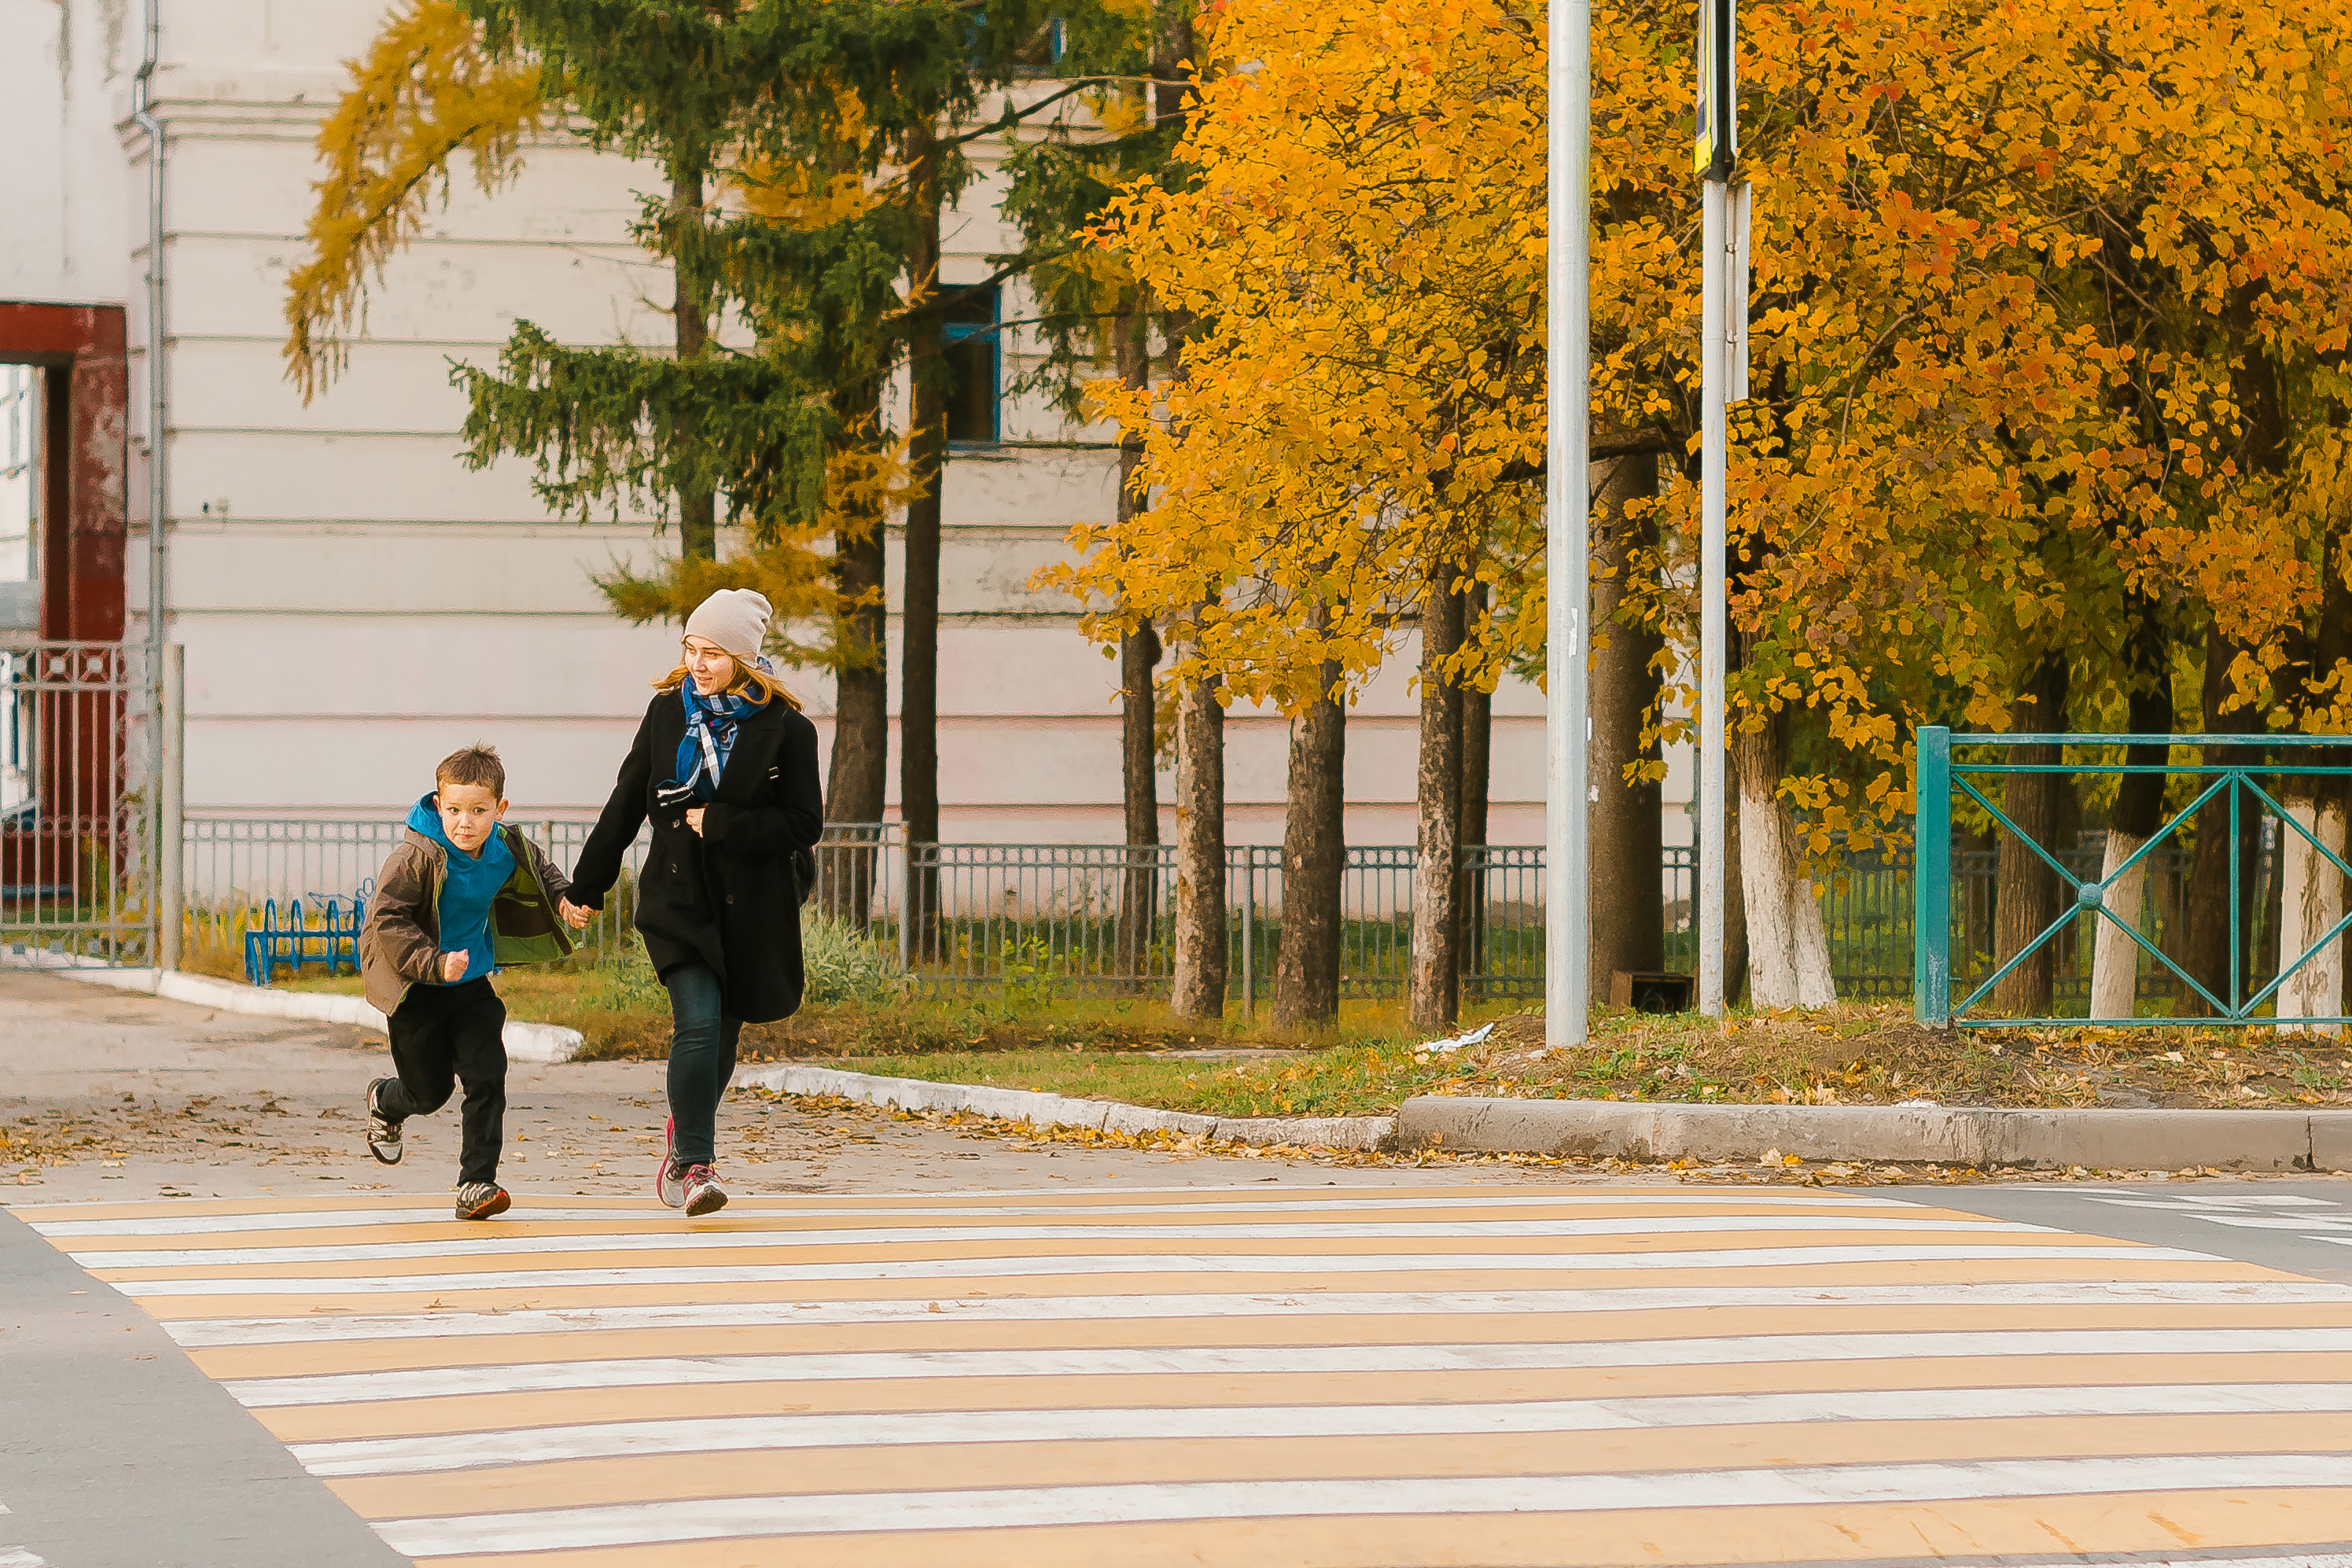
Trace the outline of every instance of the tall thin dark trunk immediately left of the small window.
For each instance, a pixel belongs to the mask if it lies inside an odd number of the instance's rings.
[[[913,287],[938,284],[938,174],[929,139],[915,148],[917,223],[908,256]],[[938,541],[948,456],[948,393],[938,381],[938,322],[924,317],[908,346],[910,430],[906,567],[898,611],[898,818],[906,842],[938,844]],[[938,952],[938,856],[908,853],[906,910],[913,950]]]

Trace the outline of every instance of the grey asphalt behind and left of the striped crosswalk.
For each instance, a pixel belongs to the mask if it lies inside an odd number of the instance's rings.
[[[367,1157],[360,1095],[383,1039],[0,969],[0,1568],[322,1568],[402,1561],[303,1474],[111,1286],[7,1208],[59,1201],[318,1201],[456,1180],[456,1107]],[[536,1197],[640,1197],[661,1063],[508,1070],[501,1180]],[[729,1095],[720,1168],[741,1197],[1028,1187],[1411,1187],[1461,1175],[1033,1145]],[[1519,1185],[1512,1168],[1470,1180]],[[252,1530],[245,1521],[280,1521]],[[9,1556],[19,1552],[24,1556]]]

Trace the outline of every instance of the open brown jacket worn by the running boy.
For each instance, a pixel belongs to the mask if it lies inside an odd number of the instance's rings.
[[[515,875],[489,900],[489,950],[499,969],[569,957],[572,933],[555,914],[555,900],[572,882],[539,844],[506,823],[499,823],[499,832],[515,853]],[[449,851],[414,827],[400,835],[376,872],[367,924],[360,929],[360,983],[367,987],[367,1004],[386,1018],[409,994],[409,985],[440,980],[440,884],[447,875]]]

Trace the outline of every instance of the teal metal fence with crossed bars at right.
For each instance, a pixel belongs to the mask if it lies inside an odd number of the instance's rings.
[[[2002,757],[2011,755],[2013,748],[2056,748],[2058,762],[2006,762]],[[2124,748],[2199,748],[2204,757],[2232,755],[2230,762],[2161,762],[2161,764],[2136,764],[2136,762],[2105,762],[2103,757]],[[2338,757],[2331,764],[2310,764],[2307,759],[2281,762],[2272,757],[2274,748],[2321,748],[2326,755]],[[1983,757],[1966,757],[1957,752],[1969,752],[1983,748]],[[2336,867],[2338,875],[2352,877],[2352,865],[2345,863],[2340,853],[2321,844],[2303,823],[2298,823],[2286,806],[2279,802],[2277,792],[2265,788],[2265,780],[2277,780],[2288,773],[2317,773],[2317,776],[2347,776],[2352,773],[2352,736],[1985,736],[1966,733],[1955,736],[1945,726],[1922,726],[1919,729],[1919,797],[1917,797],[1917,844],[1940,844],[1947,846],[1943,853],[1929,853],[1919,863],[1919,875],[1915,879],[1915,917],[1912,917],[1912,994],[1917,1001],[1917,1016],[1926,1025],[1936,1027],[2020,1027],[2020,1025],[2131,1025],[2143,1023],[2136,1016],[2129,1018],[2093,1018],[2091,1009],[2084,1016],[2042,1016],[2042,1018],[2018,1018],[2018,1016],[1994,1016],[1980,1011],[1985,1001],[1994,994],[1994,987],[2013,973],[2020,964],[2044,950],[2056,950],[2053,957],[2067,959],[2067,950],[2074,954],[2091,947],[2084,943],[2084,931],[2119,931],[2131,938],[2147,961],[2150,978],[2157,980],[2152,987],[2157,994],[2171,994],[2176,1004],[2204,1004],[2211,1009],[2201,1016],[2180,1016],[2180,1023],[2213,1025],[2213,1027],[2241,1027],[2249,1023],[2277,1023],[2277,994],[2288,978],[2300,973],[2312,964],[2331,943],[2343,938],[2345,929],[2352,926],[2352,912],[2338,919],[2328,931],[2324,931],[2314,943],[2300,952],[2279,952],[2277,966],[2260,966],[2249,959],[2249,936],[2246,912],[2260,910],[2263,905],[2249,898],[2251,889],[2267,882],[2272,860],[2286,846],[2286,835],[2300,835],[2303,844],[2324,856],[2326,863]],[[2067,759],[2067,752],[2093,752],[2100,759]],[[2126,752],[2129,755],[2129,752]],[[2042,844],[2032,835],[2023,832],[2018,823],[2002,809],[1994,799],[1994,780],[2016,778],[2025,773],[2067,773],[2067,776],[2133,776],[2133,773],[2161,773],[2166,778],[2192,778],[2192,797],[2173,811],[2159,827],[2143,842],[2136,853],[2117,865],[2112,872],[2103,875],[2103,858],[2093,851],[2084,851],[2079,844]],[[2016,952],[2002,957],[1997,964],[1985,964],[1983,969],[1969,964],[1971,973],[1955,966],[1955,929],[1959,929],[1959,952],[1962,964],[1976,957],[1983,959],[1990,943],[1980,943],[1980,933],[1990,933],[1990,872],[1992,853],[1976,853],[1980,865],[1966,865],[1964,853],[1957,849],[1952,837],[1952,802],[1955,797],[1971,802],[1985,813],[1992,825],[1992,835],[2009,835],[2018,844],[2032,849],[2032,853],[2056,872],[2060,882],[2060,912],[2030,940],[2020,943]],[[2230,835],[2230,882],[2227,882],[2227,912],[2230,912],[2230,976],[2223,992],[2216,994],[2213,987],[2192,976],[2173,952],[2159,940],[2159,931],[2150,931],[2154,924],[2145,917],[2124,922],[2105,903],[2105,893],[2117,886],[2133,870],[2159,872],[2169,877],[2173,886],[2185,877],[2187,870],[2187,830],[2197,820],[2199,811],[2206,806],[2225,806],[2227,811],[2227,835]],[[2256,849],[2246,853],[2244,827],[2256,825],[2246,820],[2253,811],[2260,818],[2260,832],[2256,837]],[[2173,900],[2178,907],[2178,898]],[[2060,961],[2060,969],[2079,969],[2079,957],[2074,964]],[[2079,980],[2077,980],[2079,983]],[[2147,994],[2150,987],[2140,987],[2138,994]],[[1959,999],[1955,1001],[1955,992]],[[2067,997],[2070,987],[2053,987],[2053,999]],[[2272,1009],[2265,1013],[2263,1009]],[[2176,1013],[2185,1009],[2176,1006]],[[2296,1013],[2298,1025],[2343,1025],[2352,1018],[2340,1013],[2314,1016]]]

